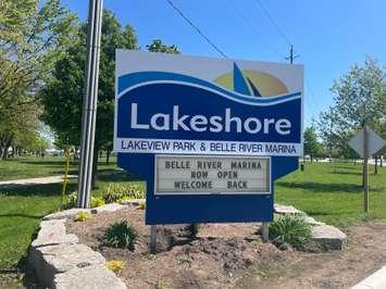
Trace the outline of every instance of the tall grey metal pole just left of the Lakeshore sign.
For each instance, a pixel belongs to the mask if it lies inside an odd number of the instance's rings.
[[[86,88],[82,114],[82,142],[77,206],[90,208],[94,144],[97,122],[102,0],[89,0]]]

